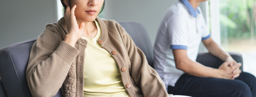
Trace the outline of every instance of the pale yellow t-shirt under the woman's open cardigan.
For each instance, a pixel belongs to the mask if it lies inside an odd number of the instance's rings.
[[[101,30],[94,38],[85,38],[84,97],[129,97],[121,80],[119,67],[113,57],[98,43]]]

